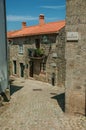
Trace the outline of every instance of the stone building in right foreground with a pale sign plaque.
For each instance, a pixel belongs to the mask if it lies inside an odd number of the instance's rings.
[[[66,1],[66,112],[86,114],[86,0]]]

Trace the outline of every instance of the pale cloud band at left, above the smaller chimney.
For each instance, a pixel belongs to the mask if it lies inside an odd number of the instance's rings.
[[[37,20],[38,17],[32,17],[32,16],[18,16],[18,15],[8,15],[7,21],[10,22],[17,22],[17,21],[32,21]]]

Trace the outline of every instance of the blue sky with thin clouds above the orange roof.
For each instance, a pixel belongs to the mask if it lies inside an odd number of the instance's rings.
[[[66,0],[6,0],[7,31],[19,30],[22,22],[27,26],[39,24],[39,15],[45,22],[65,19]]]

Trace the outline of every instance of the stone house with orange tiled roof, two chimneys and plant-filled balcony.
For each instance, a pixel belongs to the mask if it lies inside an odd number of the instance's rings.
[[[8,32],[10,75],[64,85],[65,80],[65,21],[39,24]]]

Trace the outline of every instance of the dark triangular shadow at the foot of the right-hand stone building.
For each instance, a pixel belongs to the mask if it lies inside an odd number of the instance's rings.
[[[55,95],[55,96],[53,96],[51,98],[57,100],[57,102],[58,102],[59,106],[61,107],[62,111],[65,112],[65,93]]]

